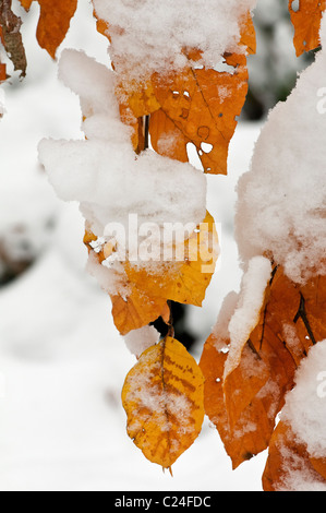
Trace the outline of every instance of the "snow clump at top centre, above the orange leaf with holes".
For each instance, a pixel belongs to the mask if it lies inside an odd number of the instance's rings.
[[[186,50],[193,48],[203,52],[197,65],[214,68],[237,47],[241,22],[255,4],[256,0],[193,0],[189,9],[188,0],[94,0],[97,16],[110,26],[114,69],[136,82],[153,72],[182,69],[189,62]]]

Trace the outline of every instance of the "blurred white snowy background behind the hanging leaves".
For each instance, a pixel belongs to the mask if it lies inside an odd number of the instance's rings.
[[[79,98],[59,83],[57,63],[37,46],[38,7],[33,4],[26,17],[14,5],[25,20],[28,69],[23,82],[13,77],[1,86],[7,114],[0,121],[0,279],[20,266],[27,270],[0,287],[0,489],[261,490],[266,454],[232,472],[208,421],[173,465],[173,478],[128,438],[120,391],[135,359],[113,326],[109,298],[85,272],[77,206],[56,198],[37,164],[43,138],[82,136]],[[291,63],[293,79],[291,32],[283,29],[282,37],[283,65],[288,70]],[[109,62],[86,1],[80,2],[60,52],[70,47]],[[258,85],[265,91],[264,81]],[[239,287],[234,187],[249,169],[262,122],[243,119],[230,147],[229,177],[208,176],[207,207],[221,227],[222,258],[204,308],[188,310],[197,360],[224,297]]]

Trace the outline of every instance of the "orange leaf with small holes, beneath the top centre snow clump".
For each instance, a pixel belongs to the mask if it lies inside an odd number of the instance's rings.
[[[149,132],[156,134],[156,151],[165,155],[166,141],[177,139],[178,153],[183,143],[193,143],[205,172],[227,174],[230,140],[237,127],[247,93],[246,58],[242,55],[225,56],[230,72],[189,67],[181,73],[153,76],[155,97],[169,126],[157,126],[160,118],[152,117]],[[162,142],[161,142],[162,141]]]

